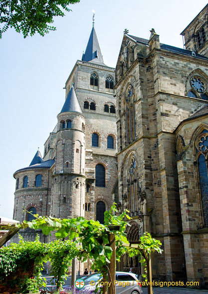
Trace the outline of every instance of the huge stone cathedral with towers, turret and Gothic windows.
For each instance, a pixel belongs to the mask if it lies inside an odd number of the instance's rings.
[[[208,4],[181,34],[184,49],[160,43],[154,28],[149,39],[125,29],[112,68],[93,23],[43,157],[37,150],[29,166],[14,172],[13,218],[31,220],[31,212],[103,223],[115,201],[132,218],[128,240],[144,231],[161,240],[154,279],[206,287]],[[36,232],[21,233],[32,240]],[[130,267],[143,271],[139,258],[124,255],[117,269]]]

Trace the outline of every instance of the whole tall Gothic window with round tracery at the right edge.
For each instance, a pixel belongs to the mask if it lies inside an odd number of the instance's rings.
[[[196,139],[200,188],[205,225],[208,226],[208,130],[204,129]]]

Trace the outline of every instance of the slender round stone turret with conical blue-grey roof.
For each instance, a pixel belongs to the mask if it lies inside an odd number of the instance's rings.
[[[57,118],[51,214],[84,216],[85,117],[73,84]]]

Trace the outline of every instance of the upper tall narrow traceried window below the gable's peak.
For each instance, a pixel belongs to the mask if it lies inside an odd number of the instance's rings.
[[[134,99],[134,88],[132,84],[129,84],[125,95],[125,135],[127,145],[136,137]]]

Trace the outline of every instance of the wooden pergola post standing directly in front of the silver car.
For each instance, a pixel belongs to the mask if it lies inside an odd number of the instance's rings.
[[[116,286],[114,284],[116,278],[116,241],[115,234],[108,234],[109,244],[113,250],[110,260],[110,274],[108,272],[108,282],[111,282],[110,287],[108,287],[108,294],[116,294]],[[109,266],[109,265],[108,265]]]

